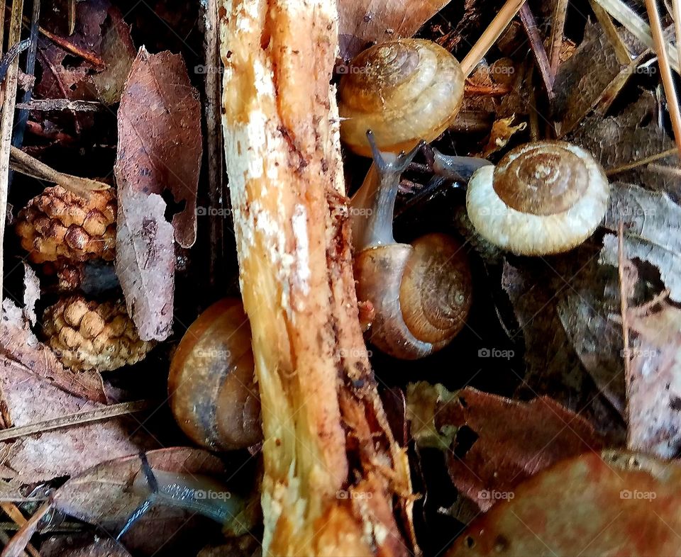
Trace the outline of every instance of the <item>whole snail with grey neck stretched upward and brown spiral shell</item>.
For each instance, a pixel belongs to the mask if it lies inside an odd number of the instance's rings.
[[[442,349],[463,328],[472,302],[470,266],[453,237],[433,233],[395,242],[392,218],[408,154],[380,152],[367,133],[374,164],[351,202],[358,300],[372,304],[370,342],[391,356],[417,359]]]

